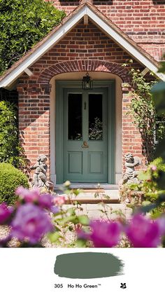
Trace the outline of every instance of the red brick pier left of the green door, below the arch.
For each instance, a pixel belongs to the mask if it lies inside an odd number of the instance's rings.
[[[20,142],[25,155],[30,163],[34,164],[38,154],[45,154],[48,156],[49,166],[50,89],[45,85],[34,84],[27,75],[24,75],[17,86],[17,91],[19,93]]]

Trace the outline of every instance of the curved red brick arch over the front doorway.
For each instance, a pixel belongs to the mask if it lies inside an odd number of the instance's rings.
[[[49,83],[53,76],[76,71],[102,71],[120,76],[123,82],[128,83],[130,81],[128,70],[122,67],[121,64],[102,60],[73,60],[59,62],[44,69],[38,77],[38,83]]]

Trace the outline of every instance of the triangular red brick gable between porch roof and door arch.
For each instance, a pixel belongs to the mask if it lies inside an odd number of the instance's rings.
[[[38,81],[38,76],[41,75],[43,78],[41,80],[44,83],[44,77],[48,80],[55,73],[52,68],[64,61],[103,60],[120,64],[122,67],[122,64],[130,58],[128,53],[112,39],[109,39],[92,22],[89,22],[87,26],[81,22],[30,68],[34,73],[31,78]],[[143,66],[137,62],[134,62],[134,67],[143,69]]]

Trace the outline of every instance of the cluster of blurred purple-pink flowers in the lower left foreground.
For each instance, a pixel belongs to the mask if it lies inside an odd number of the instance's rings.
[[[0,240],[1,247],[7,247],[12,238],[29,246],[41,242],[43,235],[54,231],[50,212],[59,212],[54,202],[55,196],[40,194],[37,188],[29,191],[20,186],[15,193],[19,195],[15,205],[0,205],[0,224],[10,227],[8,237]]]

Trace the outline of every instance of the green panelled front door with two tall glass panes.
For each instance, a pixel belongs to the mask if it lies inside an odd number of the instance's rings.
[[[108,182],[108,88],[65,88],[63,180]]]

